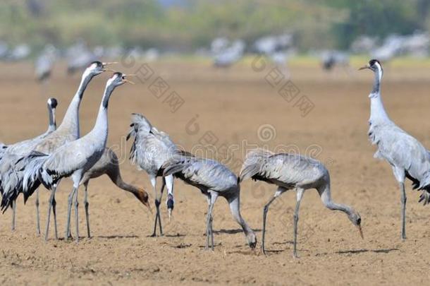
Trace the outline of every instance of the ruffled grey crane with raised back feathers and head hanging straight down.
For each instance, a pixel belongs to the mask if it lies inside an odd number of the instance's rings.
[[[161,227],[159,205],[161,197],[163,196],[164,186],[166,186],[168,191],[166,205],[170,217],[174,205],[173,176],[163,177],[160,193],[158,193],[156,189],[156,177],[163,175],[160,171],[161,166],[171,156],[180,152],[180,150],[175,143],[171,141],[167,133],[158,131],[142,114],[132,114],[132,123],[130,127],[127,140],[130,137],[134,137],[133,145],[130,149],[130,161],[136,164],[139,169],[143,169],[147,172],[152,188],[154,189],[156,214],[152,237],[156,236],[157,222],[159,223],[160,235],[162,236],[163,228]]]

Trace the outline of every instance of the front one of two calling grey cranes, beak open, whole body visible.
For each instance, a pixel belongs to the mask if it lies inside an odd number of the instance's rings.
[[[47,189],[51,190],[49,198],[47,228],[45,231],[45,239],[48,239],[49,220],[51,208],[55,198],[57,183],[63,177],[72,177],[73,189],[68,196],[68,212],[66,219],[66,234],[67,239],[70,235],[70,213],[75,197],[75,227],[76,237],[79,240],[79,223],[78,223],[78,188],[83,175],[102,157],[106,148],[108,137],[108,114],[109,99],[113,90],[128,82],[126,75],[123,73],[113,73],[106,83],[102,102],[100,103],[99,113],[97,114],[96,123],[92,131],[87,133],[82,138],[75,141],[70,141],[56,148],[53,153],[46,155],[34,151],[30,156],[28,167],[25,169],[23,178],[23,193],[27,193],[37,187],[37,184],[43,184]]]

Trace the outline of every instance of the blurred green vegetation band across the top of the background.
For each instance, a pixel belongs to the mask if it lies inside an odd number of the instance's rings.
[[[347,48],[358,35],[429,30],[430,0],[3,0],[0,40],[65,47],[160,47],[192,51],[214,37],[253,42],[291,32],[301,51]]]

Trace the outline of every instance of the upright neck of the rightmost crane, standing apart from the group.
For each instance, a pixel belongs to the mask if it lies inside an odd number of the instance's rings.
[[[381,80],[382,80],[382,68],[379,64],[376,65],[376,71],[374,71],[374,85],[369,95],[370,97],[370,119],[371,124],[383,123],[390,121],[388,114],[383,107],[381,98]]]

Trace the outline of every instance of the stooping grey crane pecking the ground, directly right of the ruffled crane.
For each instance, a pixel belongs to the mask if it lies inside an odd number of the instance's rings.
[[[195,186],[208,201],[206,222],[206,249],[214,250],[214,232],[212,231],[212,211],[218,196],[226,198],[231,214],[245,233],[247,244],[254,249],[257,238],[254,231],[240,215],[240,184],[230,169],[215,160],[203,159],[192,155],[173,155],[163,167],[164,176],[174,175],[185,183]]]

